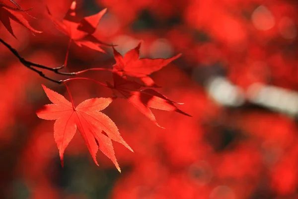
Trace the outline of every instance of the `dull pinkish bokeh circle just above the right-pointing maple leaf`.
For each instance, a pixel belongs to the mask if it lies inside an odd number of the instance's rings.
[[[167,39],[156,39],[149,49],[152,58],[169,58],[173,55],[173,47]]]

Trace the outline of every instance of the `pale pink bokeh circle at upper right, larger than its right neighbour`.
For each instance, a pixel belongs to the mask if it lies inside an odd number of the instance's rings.
[[[253,11],[251,20],[253,25],[258,30],[269,30],[275,25],[275,20],[272,12],[263,5],[257,7]]]

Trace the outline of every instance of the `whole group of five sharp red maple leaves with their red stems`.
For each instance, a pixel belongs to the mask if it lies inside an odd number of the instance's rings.
[[[8,12],[1,12],[1,16],[3,16],[1,19],[4,20],[4,17],[6,17],[5,21],[9,21],[8,17],[13,20],[17,19],[16,21],[21,23],[26,28],[30,29],[31,31],[38,32],[31,28],[24,18],[13,15],[11,10],[15,9],[17,11],[23,12],[25,12],[25,10],[22,10],[22,8],[16,2],[10,2],[13,3],[16,8],[9,7],[7,2],[6,4],[3,4],[1,8],[9,11],[10,15],[7,14]],[[66,67],[67,65],[71,42],[74,42],[80,47],[83,45],[100,52],[105,52],[100,46],[113,47],[113,45],[105,44],[93,36],[99,20],[106,12],[106,9],[101,10],[97,14],[86,16],[80,19],[76,15],[75,8],[76,1],[74,0],[62,21],[53,17],[49,8],[47,8],[48,16],[53,21],[57,29],[70,37],[65,64],[58,70]],[[5,21],[3,22],[4,26],[14,36],[10,23]],[[140,48],[141,42],[136,48],[130,50],[124,55],[124,57],[122,57],[122,55],[113,47],[114,57],[116,60],[116,64],[113,65],[113,70],[111,71],[113,74],[113,85],[110,83],[107,83],[108,85],[104,85],[102,83],[99,84],[112,89],[114,93],[113,99],[124,98],[128,100],[157,126],[159,126],[159,124],[157,124],[155,117],[149,108],[177,111],[184,115],[190,116],[189,114],[178,109],[175,106],[175,104],[177,104],[176,102],[167,99],[157,91],[153,89],[141,89],[143,87],[157,87],[149,75],[179,58],[181,54],[169,59],[139,59]],[[34,64],[31,65],[36,66]],[[43,68],[48,69],[47,67]],[[56,70],[56,72],[58,70]],[[93,70],[98,70],[98,68]],[[84,71],[80,71],[78,73],[83,72]],[[121,170],[117,163],[111,140],[123,144],[131,151],[133,150],[121,137],[116,124],[107,115],[99,112],[112,102],[112,98],[89,99],[81,102],[75,107],[71,92],[66,85],[66,82],[75,79],[79,80],[80,78],[61,81],[61,83],[63,83],[69,91],[71,102],[66,100],[60,94],[43,86],[48,98],[53,102],[53,104],[45,105],[41,110],[37,111],[37,115],[42,119],[56,120],[54,124],[54,137],[59,149],[62,166],[64,165],[64,151],[74,137],[77,128],[82,135],[95,164],[98,165],[96,153],[97,150],[100,149],[101,152],[103,152],[112,160],[120,172]],[[85,78],[85,80],[91,79]],[[53,81],[55,82],[55,80]],[[60,83],[58,81],[56,82]]]

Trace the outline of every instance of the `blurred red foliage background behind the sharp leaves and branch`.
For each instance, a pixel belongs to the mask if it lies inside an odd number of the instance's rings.
[[[60,165],[54,121],[35,111],[50,103],[41,84],[63,86],[20,65],[0,45],[1,199],[296,199],[298,198],[297,0],[77,0],[78,14],[107,7],[95,35],[125,53],[143,40],[143,57],[183,56],[151,77],[159,92],[193,115],[156,110],[154,125],[126,100],[104,112],[134,149],[114,143],[120,174],[98,153],[97,167],[77,132]],[[12,22],[17,40],[0,38],[50,67],[64,62],[68,38],[46,17],[62,19],[71,0],[16,0],[33,7],[32,36]],[[114,64],[72,45],[66,71]],[[67,77],[49,74],[57,80]],[[105,82],[108,72],[85,76]],[[69,84],[74,103],[111,92]]]

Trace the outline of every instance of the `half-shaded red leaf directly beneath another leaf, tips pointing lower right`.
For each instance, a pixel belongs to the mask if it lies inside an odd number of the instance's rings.
[[[142,85],[130,81],[126,77],[123,77],[122,72],[114,71],[113,80],[114,85],[108,84],[108,87],[113,90],[115,97],[128,100],[132,105],[138,108],[143,114],[145,114],[159,127],[161,126],[156,122],[155,116],[153,115],[150,108],[176,111],[181,114],[190,116],[174,105],[179,103],[167,99],[157,91],[153,89],[145,89],[140,91]]]

